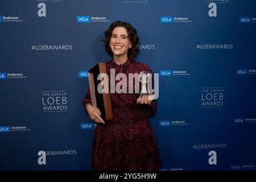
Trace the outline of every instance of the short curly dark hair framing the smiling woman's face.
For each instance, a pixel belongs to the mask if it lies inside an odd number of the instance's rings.
[[[121,22],[117,21],[112,24],[110,24],[108,30],[105,31],[105,37],[102,40],[104,42],[105,51],[109,53],[110,56],[113,56],[113,52],[109,46],[109,41],[112,37],[112,32],[115,27],[125,27],[128,33],[128,38],[131,42],[131,48],[128,49],[128,57],[130,60],[133,60],[134,57],[138,54],[139,52],[139,38],[137,36],[137,31],[134,27],[131,26],[130,23],[127,22]]]

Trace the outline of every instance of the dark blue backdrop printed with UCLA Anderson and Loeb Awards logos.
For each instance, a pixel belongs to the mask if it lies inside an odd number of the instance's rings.
[[[116,20],[159,73],[161,170],[256,169],[256,2],[0,2],[0,169],[91,170],[82,99]]]

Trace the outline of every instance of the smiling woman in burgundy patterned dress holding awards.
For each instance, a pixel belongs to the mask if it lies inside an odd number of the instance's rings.
[[[115,75],[152,73],[147,64],[133,60],[139,51],[139,38],[129,23],[117,21],[105,31],[104,47],[113,59],[106,62]],[[109,79],[110,80],[110,79]],[[115,85],[119,81],[115,81]],[[127,84],[127,83],[126,83]],[[110,87],[109,87],[110,88]],[[160,159],[154,132],[148,118],[155,114],[156,101],[139,93],[110,93],[114,119],[103,121],[101,112],[92,106],[88,90],[82,104],[98,123],[92,148],[92,167],[96,170],[156,170]]]

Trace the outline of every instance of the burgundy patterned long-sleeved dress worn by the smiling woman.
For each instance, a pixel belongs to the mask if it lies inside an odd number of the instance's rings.
[[[129,59],[120,65],[110,60],[106,62],[106,68],[109,81],[110,69],[115,69],[115,75],[125,73],[127,82],[129,73],[152,73],[147,64]],[[115,81],[115,84],[118,82]],[[127,92],[128,90],[127,88]],[[152,101],[151,106],[137,104],[139,93],[111,93],[110,96],[114,119],[96,127],[92,167],[96,170],[159,169],[160,159],[155,135],[148,122],[148,118],[155,114],[156,101]],[[91,103],[89,90],[82,101],[84,106],[87,103]]]

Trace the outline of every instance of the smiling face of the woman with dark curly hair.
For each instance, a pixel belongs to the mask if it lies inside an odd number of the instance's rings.
[[[125,27],[114,28],[109,46],[114,56],[127,56],[128,49],[131,48],[131,42]]]

